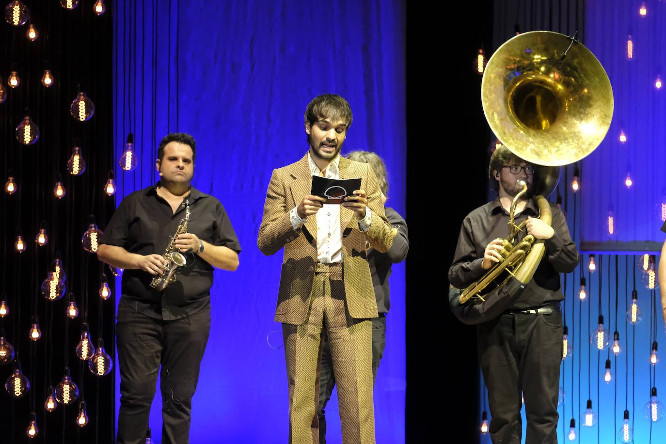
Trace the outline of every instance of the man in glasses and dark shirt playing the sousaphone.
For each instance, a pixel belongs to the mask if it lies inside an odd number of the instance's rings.
[[[463,221],[449,280],[466,288],[494,264],[503,247],[498,238],[509,232],[509,208],[521,191],[518,180],[528,186],[515,208],[515,224],[527,219],[525,234],[543,240],[545,255],[533,278],[515,303],[495,319],[477,327],[479,363],[488,387],[490,437],[494,443],[520,444],[521,392],[525,397],[527,443],[557,444],[557,396],[562,359],[562,316],[559,302],[560,273],[573,271],[579,255],[569,236],[564,214],[551,204],[551,226],[541,221],[529,197],[535,167],[505,146],[490,158],[490,180],[499,196],[472,211]]]

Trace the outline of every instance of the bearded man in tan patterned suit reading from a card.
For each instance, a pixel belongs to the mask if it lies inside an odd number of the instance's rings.
[[[282,322],[289,384],[289,442],[318,443],[322,334],[330,341],[344,443],[374,443],[372,323],[377,304],[366,242],[386,252],[393,239],[377,178],[368,164],[340,156],[352,111],[338,95],[312,99],[305,112],[310,149],[273,170],[257,246],[284,247],[275,320]],[[312,176],[361,178],[340,205],[310,194]]]

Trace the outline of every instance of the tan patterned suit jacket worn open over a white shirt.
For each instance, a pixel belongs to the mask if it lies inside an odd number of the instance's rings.
[[[377,178],[370,165],[340,158],[340,178],[361,178],[361,189],[368,193],[372,211],[370,230],[358,228],[354,212],[340,207],[342,233],[342,272],[347,308],[356,319],[376,318],[377,302],[366,255],[366,238],[372,247],[385,252],[393,243],[391,227],[384,215],[384,204]],[[256,244],[263,254],[275,254],[284,246],[282,274],[275,320],[286,324],[303,324],[308,314],[310,291],[317,262],[317,218],[296,231],[289,212],[310,194],[312,174],[308,154],[298,162],[273,170],[266,192],[264,217]]]

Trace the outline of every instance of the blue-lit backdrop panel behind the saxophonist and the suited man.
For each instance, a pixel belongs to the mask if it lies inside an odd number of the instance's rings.
[[[354,122],[343,154],[380,154],[390,174],[387,205],[408,216],[404,13],[399,0],[115,5],[116,158],[128,132],[135,134],[139,157],[133,172],[117,170],[117,203],[154,182],[162,136],[189,132],[197,142],[194,186],[221,200],[242,245],[238,271],[214,277],[191,442],[287,439],[284,351],[277,348],[282,334],[273,322],[282,252],[262,256],[256,233],[273,168],[306,153],[303,114],[312,97],[337,93],[348,99]],[[394,266],[391,278],[387,345],[376,384],[381,443],[404,441],[404,267]],[[339,443],[336,400],[327,412],[329,442]],[[159,394],[151,426],[160,442]]]

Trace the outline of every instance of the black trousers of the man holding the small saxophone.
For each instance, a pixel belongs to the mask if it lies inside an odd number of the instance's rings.
[[[210,332],[210,306],[173,321],[118,306],[116,337],[121,374],[119,444],[143,444],[162,366],[162,442],[189,442],[192,396]]]

